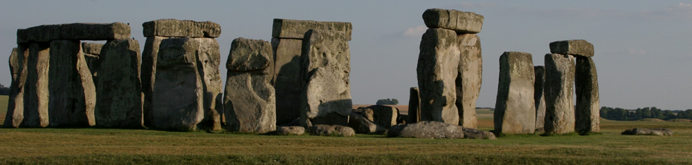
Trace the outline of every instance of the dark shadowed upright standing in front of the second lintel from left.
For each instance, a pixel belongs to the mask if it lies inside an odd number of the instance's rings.
[[[203,88],[197,67],[197,39],[161,41],[152,92],[150,127],[161,130],[195,130],[204,117]]]

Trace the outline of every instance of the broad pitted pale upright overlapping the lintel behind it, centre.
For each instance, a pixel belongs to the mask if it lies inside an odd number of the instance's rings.
[[[300,126],[345,126],[353,103],[349,83],[351,54],[344,33],[309,30],[301,52],[307,83],[300,100]],[[331,121],[318,119],[329,114]]]

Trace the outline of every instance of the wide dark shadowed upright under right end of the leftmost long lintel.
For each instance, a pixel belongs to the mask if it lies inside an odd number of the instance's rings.
[[[100,60],[94,110],[96,126],[143,128],[138,41],[110,40],[103,46]]]

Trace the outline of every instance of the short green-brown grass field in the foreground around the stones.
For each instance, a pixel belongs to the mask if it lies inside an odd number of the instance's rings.
[[[492,111],[477,112],[491,129]],[[635,127],[675,135],[619,135]],[[604,120],[601,130],[479,140],[2,128],[0,164],[692,164],[692,123]]]

